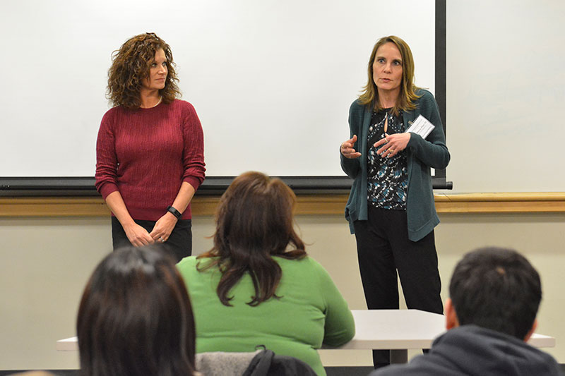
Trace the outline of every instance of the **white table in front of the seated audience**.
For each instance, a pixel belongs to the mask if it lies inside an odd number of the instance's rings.
[[[406,363],[409,348],[430,348],[446,331],[444,315],[421,310],[352,310],[355,336],[338,349],[391,349],[391,362]],[[528,344],[554,347],[552,336],[533,334]],[[77,351],[76,336],[57,341],[59,351]]]

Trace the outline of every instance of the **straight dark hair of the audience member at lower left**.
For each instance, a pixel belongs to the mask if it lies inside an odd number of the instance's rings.
[[[160,248],[121,248],[96,267],[76,322],[81,375],[193,375],[189,294]]]

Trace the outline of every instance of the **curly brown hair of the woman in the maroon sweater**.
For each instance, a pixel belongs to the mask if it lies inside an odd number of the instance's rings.
[[[165,51],[168,69],[165,87],[159,90],[162,102],[171,103],[175,98],[181,97],[171,47],[154,32],[145,32],[145,34],[131,37],[119,49],[112,52],[112,66],[108,70],[106,97],[113,107],[124,106],[128,109],[138,109],[141,106],[139,97],[141,83],[143,79],[148,78],[155,53],[160,49]]]

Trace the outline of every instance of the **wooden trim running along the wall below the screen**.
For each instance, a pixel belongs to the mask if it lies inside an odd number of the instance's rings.
[[[195,217],[213,215],[220,198],[194,198]],[[565,212],[565,193],[465,193],[436,194],[439,213]],[[299,195],[296,214],[343,214],[347,195]],[[0,198],[0,218],[6,217],[107,217],[102,198]]]

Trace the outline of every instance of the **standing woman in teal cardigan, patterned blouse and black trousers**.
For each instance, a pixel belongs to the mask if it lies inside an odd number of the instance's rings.
[[[430,168],[450,155],[433,95],[415,87],[414,62],[399,37],[376,42],[364,92],[350,107],[350,139],[340,146],[352,184],[345,217],[357,240],[359,271],[369,309],[398,309],[398,277],[408,308],[442,313],[434,227],[439,224]],[[424,116],[427,138],[405,132]],[[389,363],[374,351],[375,367]]]

